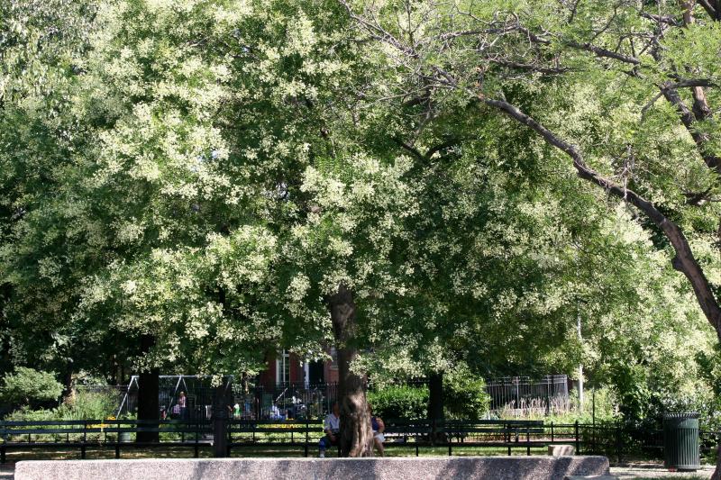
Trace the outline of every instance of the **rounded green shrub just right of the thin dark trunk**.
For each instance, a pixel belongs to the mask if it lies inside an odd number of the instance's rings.
[[[488,412],[490,396],[486,382],[468,369],[458,368],[443,376],[443,407],[446,417],[479,420]]]

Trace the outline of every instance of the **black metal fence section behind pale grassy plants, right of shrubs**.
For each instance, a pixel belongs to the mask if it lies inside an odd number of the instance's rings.
[[[533,381],[528,376],[507,376],[489,381],[486,391],[494,411],[568,412],[569,379],[565,375],[543,376]]]

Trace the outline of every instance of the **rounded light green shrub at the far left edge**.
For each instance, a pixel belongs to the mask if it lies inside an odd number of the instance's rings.
[[[32,368],[16,367],[14,373],[5,375],[0,388],[0,398],[16,407],[37,407],[42,403],[57,401],[62,394],[62,384],[55,374]]]

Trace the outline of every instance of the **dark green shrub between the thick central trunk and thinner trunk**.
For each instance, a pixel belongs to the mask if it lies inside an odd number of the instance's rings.
[[[424,419],[428,416],[428,388],[389,385],[367,394],[373,413],[384,419]]]

